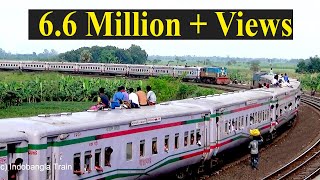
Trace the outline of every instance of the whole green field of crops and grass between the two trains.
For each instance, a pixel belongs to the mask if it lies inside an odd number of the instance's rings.
[[[127,89],[140,86],[145,91],[146,86],[150,85],[158,102],[221,93],[170,77],[128,80],[18,71],[0,71],[0,76],[0,118],[83,111],[95,104],[100,87],[105,87],[106,95],[112,98],[118,86],[123,85]],[[14,100],[10,101],[12,97]],[[17,106],[16,102],[22,103]]]

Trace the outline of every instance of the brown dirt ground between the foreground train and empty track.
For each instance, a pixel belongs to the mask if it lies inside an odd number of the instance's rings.
[[[308,144],[320,134],[320,115],[314,109],[301,104],[296,124],[285,137],[260,151],[258,170],[252,170],[249,155],[234,166],[226,165],[221,171],[207,179],[262,179],[285,163],[301,154]]]

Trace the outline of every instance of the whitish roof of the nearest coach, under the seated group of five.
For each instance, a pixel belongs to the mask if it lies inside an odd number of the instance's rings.
[[[14,131],[38,131],[51,134],[64,130],[83,130],[108,127],[112,125],[130,124],[134,120],[147,118],[161,119],[169,117],[188,116],[192,114],[209,113],[209,108],[193,104],[174,105],[172,103],[141,107],[140,109],[115,109],[111,111],[77,112],[71,115],[52,115],[49,117],[11,118],[0,121],[0,126]],[[51,133],[50,133],[51,132]]]

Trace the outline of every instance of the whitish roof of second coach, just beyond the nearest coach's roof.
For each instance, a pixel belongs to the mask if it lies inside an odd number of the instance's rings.
[[[272,94],[264,91],[240,91],[240,92],[231,92],[223,93],[221,95],[216,94],[212,96],[201,96],[198,98],[189,98],[177,101],[177,103],[189,103],[189,104],[198,104],[204,107],[210,107],[211,110],[227,107],[251,100],[272,98]]]

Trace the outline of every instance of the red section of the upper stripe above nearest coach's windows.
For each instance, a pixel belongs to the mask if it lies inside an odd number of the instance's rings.
[[[123,136],[123,135],[128,135],[128,134],[134,134],[134,133],[139,133],[139,132],[144,132],[144,131],[151,131],[151,130],[156,130],[156,129],[180,126],[182,124],[183,124],[183,122],[175,122],[175,123],[169,123],[169,124],[161,124],[161,125],[156,125],[156,126],[143,127],[143,128],[137,128],[137,129],[130,129],[130,130],[125,130],[125,131],[101,134],[101,135],[97,136],[97,140],[98,139],[111,138],[111,137],[117,137],[117,136]]]

